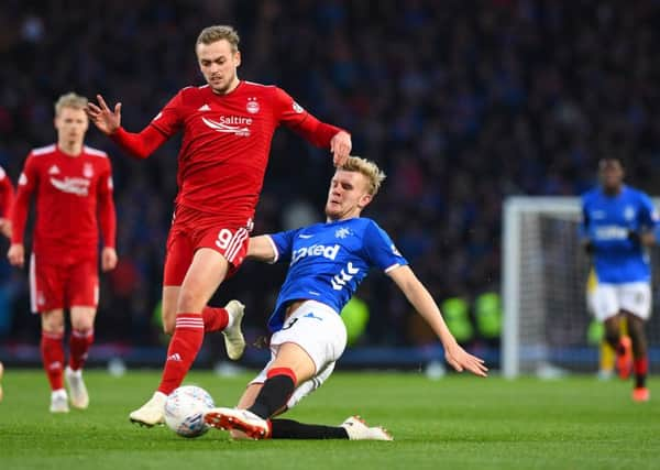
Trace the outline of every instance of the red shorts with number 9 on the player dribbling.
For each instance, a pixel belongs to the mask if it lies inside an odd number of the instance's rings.
[[[182,285],[193,256],[200,248],[210,248],[224,256],[229,261],[227,277],[231,277],[248,254],[251,231],[250,218],[243,222],[228,222],[224,217],[209,217],[208,214],[179,207],[167,237],[163,285]]]

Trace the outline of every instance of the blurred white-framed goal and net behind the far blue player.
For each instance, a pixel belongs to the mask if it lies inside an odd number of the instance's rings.
[[[576,197],[510,197],[504,204],[502,368],[507,378],[597,370],[598,348],[587,341],[590,263],[580,244],[580,219]],[[657,249],[651,254],[656,274],[660,255]],[[660,292],[657,277],[653,296]],[[660,347],[659,317],[652,314],[646,329],[651,363]]]

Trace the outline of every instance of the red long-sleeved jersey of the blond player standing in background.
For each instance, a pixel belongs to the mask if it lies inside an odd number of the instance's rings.
[[[36,196],[35,253],[95,253],[99,222],[103,245],[114,248],[112,170],[105,152],[84,146],[72,156],[55,144],[30,152],[19,178],[12,243],[23,243],[32,194]]]

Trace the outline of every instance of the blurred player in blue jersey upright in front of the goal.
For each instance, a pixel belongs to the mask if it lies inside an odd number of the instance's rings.
[[[624,184],[618,159],[598,163],[600,187],[582,196],[581,236],[598,284],[594,292],[595,317],[605,325],[605,339],[616,350],[622,378],[635,372],[632,400],[650,398],[644,324],[651,314],[651,270],[647,248],[656,243],[658,214],[645,193]],[[620,334],[620,318],[628,335]],[[631,350],[631,352],[630,352]]]

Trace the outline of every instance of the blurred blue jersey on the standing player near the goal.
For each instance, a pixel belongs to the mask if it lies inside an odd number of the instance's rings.
[[[658,214],[650,197],[640,190],[624,186],[616,196],[608,196],[596,188],[582,196],[581,234],[594,245],[598,282],[650,281],[648,253],[628,236],[657,229]]]

